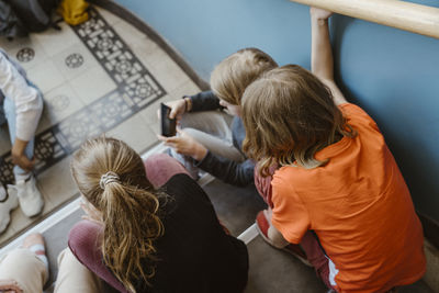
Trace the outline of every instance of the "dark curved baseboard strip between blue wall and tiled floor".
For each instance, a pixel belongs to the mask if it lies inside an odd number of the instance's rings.
[[[178,66],[192,79],[192,81],[201,89],[209,90],[211,87],[209,82],[202,79],[195,70],[185,61],[181,54],[165,38],[161,37],[150,25],[148,25],[144,20],[139,19],[136,14],[124,8],[123,5],[115,3],[111,0],[89,0],[90,3],[95,4],[102,9],[105,9],[123,19],[125,22],[130,23],[144,34],[146,34],[150,40],[153,40],[161,49],[164,49],[169,57],[177,63]]]

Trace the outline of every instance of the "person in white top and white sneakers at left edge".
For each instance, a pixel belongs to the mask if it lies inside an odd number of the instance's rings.
[[[0,49],[0,124],[8,123],[15,184],[0,184],[0,233],[10,222],[10,211],[19,203],[26,216],[43,210],[32,169],[35,164],[34,138],[43,112],[41,91],[26,78],[24,69]]]

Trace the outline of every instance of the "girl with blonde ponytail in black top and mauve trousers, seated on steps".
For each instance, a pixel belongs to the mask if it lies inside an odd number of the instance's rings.
[[[88,219],[69,247],[120,292],[241,292],[246,246],[227,235],[212,203],[167,155],[145,162],[125,143],[100,137],[75,154],[71,172]]]

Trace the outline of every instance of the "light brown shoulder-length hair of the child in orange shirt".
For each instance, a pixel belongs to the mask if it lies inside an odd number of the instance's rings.
[[[243,97],[246,138],[243,149],[268,174],[274,164],[311,169],[327,162],[315,154],[356,132],[334,103],[330,90],[313,74],[296,65],[266,72]]]

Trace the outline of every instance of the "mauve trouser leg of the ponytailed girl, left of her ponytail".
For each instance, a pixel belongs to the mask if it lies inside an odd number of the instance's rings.
[[[75,257],[90,271],[120,292],[128,293],[125,286],[103,263],[101,239],[103,227],[91,221],[76,224],[69,234],[68,245]]]

